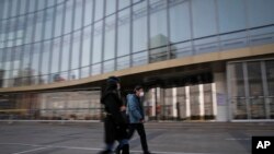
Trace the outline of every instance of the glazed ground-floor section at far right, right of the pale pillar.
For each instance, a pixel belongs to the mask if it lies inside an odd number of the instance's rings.
[[[274,119],[274,60],[228,63],[231,119]]]

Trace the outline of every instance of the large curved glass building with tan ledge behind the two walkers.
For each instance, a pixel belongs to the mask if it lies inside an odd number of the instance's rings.
[[[148,121],[273,121],[273,0],[1,0],[0,120],[101,120],[105,80]]]

